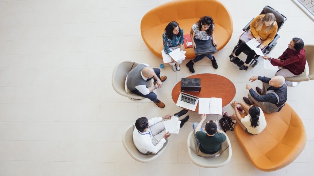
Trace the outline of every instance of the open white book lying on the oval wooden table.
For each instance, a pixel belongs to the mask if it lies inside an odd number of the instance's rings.
[[[221,98],[199,98],[198,113],[222,115],[222,99]]]

